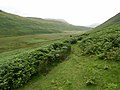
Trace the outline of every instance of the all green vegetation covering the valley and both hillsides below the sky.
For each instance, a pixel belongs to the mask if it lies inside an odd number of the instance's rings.
[[[89,28],[0,11],[0,89],[119,90],[119,19],[78,35]]]

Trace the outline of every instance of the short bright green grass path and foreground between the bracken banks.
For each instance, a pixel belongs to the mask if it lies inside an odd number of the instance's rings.
[[[46,76],[35,76],[18,90],[119,90],[120,62],[82,56],[79,44]]]

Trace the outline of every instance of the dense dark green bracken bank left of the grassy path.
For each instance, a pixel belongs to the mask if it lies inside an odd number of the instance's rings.
[[[0,65],[0,90],[13,90],[26,83],[35,73],[47,73],[50,67],[64,60],[71,51],[69,43],[54,43],[46,48],[13,58]]]

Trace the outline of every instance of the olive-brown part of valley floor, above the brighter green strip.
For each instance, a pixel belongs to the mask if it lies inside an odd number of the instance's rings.
[[[53,33],[53,34],[37,34],[37,35],[24,35],[14,37],[0,38],[0,53],[13,51],[16,49],[36,48],[42,45],[47,45],[50,42],[59,41],[64,38],[69,38],[72,34],[78,35],[82,32],[69,32],[69,33]]]

